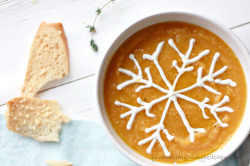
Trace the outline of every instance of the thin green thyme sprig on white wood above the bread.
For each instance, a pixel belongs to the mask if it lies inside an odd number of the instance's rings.
[[[97,17],[102,13],[102,10],[108,6],[110,3],[114,3],[115,0],[110,0],[108,1],[107,3],[105,3],[102,7],[98,7],[97,10],[95,11],[96,12],[96,16],[95,16],[95,19],[94,19],[94,22],[92,25],[87,25],[86,28],[89,29],[89,32],[91,33],[91,40],[90,40],[90,46],[92,47],[92,49],[97,52],[98,51],[98,46],[94,40],[94,33],[96,32],[96,28],[95,28],[95,24],[96,24],[96,20],[97,20]]]

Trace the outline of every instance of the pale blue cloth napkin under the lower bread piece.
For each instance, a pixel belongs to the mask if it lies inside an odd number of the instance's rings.
[[[92,121],[73,120],[62,126],[60,143],[40,143],[10,132],[0,115],[0,165],[45,166],[46,160],[67,160],[74,166],[136,166],[121,154]],[[218,166],[237,166],[227,159]]]

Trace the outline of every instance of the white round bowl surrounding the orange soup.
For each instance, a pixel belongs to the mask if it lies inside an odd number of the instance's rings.
[[[104,100],[103,100],[103,85],[104,85],[104,78],[106,74],[107,67],[109,65],[110,60],[112,59],[112,55],[115,51],[119,48],[119,46],[128,39],[131,35],[135,32],[148,27],[153,24],[161,23],[161,22],[168,22],[168,21],[181,21],[186,23],[192,23],[198,26],[201,26],[205,29],[208,29],[218,35],[221,39],[223,39],[235,52],[238,59],[241,62],[243,67],[247,85],[250,85],[250,75],[248,72],[250,71],[250,55],[239,40],[239,38],[226,26],[210,19],[208,17],[200,16],[193,13],[186,13],[186,12],[167,12],[162,14],[153,15],[147,18],[144,18],[129,28],[127,28],[118,38],[113,42],[113,44],[108,49],[105,57],[103,58],[100,68],[98,70],[97,75],[97,105],[99,108],[99,113],[102,119],[102,123],[105,129],[106,134],[112,141],[112,143],[117,147],[119,151],[121,151],[125,156],[129,159],[134,161],[139,165],[157,165],[157,166],[167,166],[171,164],[153,162],[150,159],[143,157],[142,155],[135,152],[131,149],[115,132],[110,121],[107,117]],[[234,133],[232,138],[224,145],[221,149],[216,150],[209,156],[195,160],[193,162],[185,163],[183,165],[215,165],[225,159],[226,157],[230,156],[246,139],[250,131],[250,98],[249,98],[249,87],[247,87],[247,104],[246,110],[243,116],[243,119],[238,127],[237,131]],[[214,156],[214,158],[212,158]],[[210,158],[209,158],[210,157]],[[215,159],[216,158],[216,159]]]

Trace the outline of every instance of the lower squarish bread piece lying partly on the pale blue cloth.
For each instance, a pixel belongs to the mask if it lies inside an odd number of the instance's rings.
[[[7,102],[5,119],[9,130],[41,142],[59,142],[61,123],[70,121],[57,101],[25,96]]]

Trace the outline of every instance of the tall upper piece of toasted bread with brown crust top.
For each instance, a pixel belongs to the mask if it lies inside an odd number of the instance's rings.
[[[34,96],[47,82],[68,74],[68,46],[62,24],[42,22],[30,49],[21,95]]]

